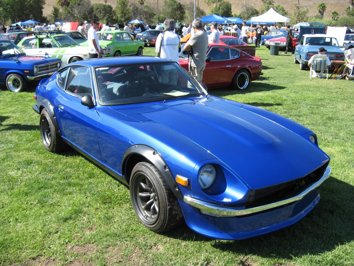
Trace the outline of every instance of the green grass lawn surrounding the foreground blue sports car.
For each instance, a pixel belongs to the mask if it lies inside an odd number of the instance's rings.
[[[318,135],[332,174],[306,217],[238,241],[202,237],[187,226],[150,232],[124,185],[73,150],[44,149],[35,87],[1,88],[0,265],[354,265],[354,83],[310,80],[291,54],[270,56],[262,47],[256,55],[264,75],[249,89],[209,93],[279,113]]]

